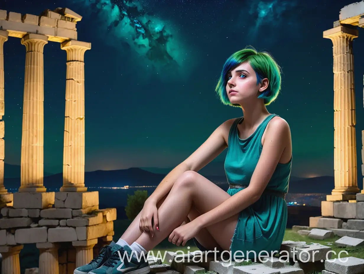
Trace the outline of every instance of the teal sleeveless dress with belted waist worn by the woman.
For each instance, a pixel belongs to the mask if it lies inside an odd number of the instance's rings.
[[[239,138],[237,129],[238,123],[241,123],[244,117],[237,118],[230,128],[225,159],[226,178],[230,186],[227,193],[230,196],[249,185],[262,152],[262,135],[274,116],[278,115],[267,116],[256,131],[244,140]],[[254,251],[256,257],[261,251],[264,251],[261,253],[263,256],[271,256],[272,251],[279,251],[287,225],[287,203],[284,198],[267,190],[288,192],[291,164],[292,157],[288,163],[278,163],[260,199],[240,212],[231,239],[232,256],[234,253],[236,256],[244,254],[244,258],[248,259],[254,258],[254,253],[248,251]]]

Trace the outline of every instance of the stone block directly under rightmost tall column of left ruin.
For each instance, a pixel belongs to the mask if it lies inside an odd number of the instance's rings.
[[[91,206],[99,205],[99,192],[65,192],[67,193],[64,200],[64,207],[68,209],[86,209]]]

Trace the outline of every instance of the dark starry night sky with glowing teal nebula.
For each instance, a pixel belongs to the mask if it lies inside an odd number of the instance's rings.
[[[222,122],[242,116],[214,92],[226,58],[246,45],[282,67],[282,91],[268,106],[290,126],[292,175],[333,176],[332,42],[336,0],[2,0],[0,9],[39,15],[67,7],[83,16],[86,171],[173,167]],[[143,35],[141,35],[143,34]],[[364,129],[363,30],[354,40],[356,138],[361,184]],[[25,47],[4,44],[5,163],[20,164]],[[44,47],[44,170],[61,172],[66,52]],[[226,150],[213,163],[223,164]]]

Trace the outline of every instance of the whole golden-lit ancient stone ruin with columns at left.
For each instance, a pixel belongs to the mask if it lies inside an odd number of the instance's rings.
[[[114,235],[116,209],[99,209],[99,192],[84,185],[84,53],[91,44],[77,40],[82,17],[68,8],[40,16],[0,10],[0,119],[4,115],[4,43],[20,38],[25,45],[21,185],[4,187],[4,121],[0,121],[0,253],[3,274],[20,274],[19,253],[28,243],[39,249],[39,273],[73,273],[91,261]],[[43,185],[44,68],[43,48],[60,43],[67,53],[64,118],[63,186],[47,192]]]

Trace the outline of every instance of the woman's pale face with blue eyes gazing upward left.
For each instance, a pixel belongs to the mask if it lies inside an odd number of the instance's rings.
[[[238,65],[227,77],[226,93],[232,104],[240,104],[248,98],[257,98],[257,93],[262,89],[261,84],[257,85],[257,75],[248,62]]]

